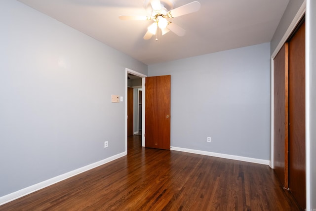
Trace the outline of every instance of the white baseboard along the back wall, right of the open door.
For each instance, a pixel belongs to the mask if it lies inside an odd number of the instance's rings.
[[[189,152],[189,153],[194,153],[194,154],[199,154],[199,155],[208,155],[208,156],[213,156],[213,157],[218,157],[218,158],[226,158],[226,159],[237,160],[237,161],[245,161],[245,162],[256,163],[256,164],[264,164],[264,165],[269,165],[270,164],[269,160],[241,157],[241,156],[237,156],[237,155],[227,155],[227,154],[221,154],[221,153],[215,153],[215,152],[207,152],[207,151],[201,151],[201,150],[195,150],[195,149],[186,149],[186,148],[180,148],[180,147],[170,147],[170,150],[181,151],[181,152]]]

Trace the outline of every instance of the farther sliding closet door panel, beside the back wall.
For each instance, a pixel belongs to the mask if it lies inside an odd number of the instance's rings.
[[[274,168],[288,188],[288,43],[274,59]]]

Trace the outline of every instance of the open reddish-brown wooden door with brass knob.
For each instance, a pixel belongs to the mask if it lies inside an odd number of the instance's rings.
[[[147,77],[145,147],[170,149],[171,76]]]

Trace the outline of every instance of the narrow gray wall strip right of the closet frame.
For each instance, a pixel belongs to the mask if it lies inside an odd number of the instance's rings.
[[[310,2],[310,199],[316,209],[316,1]]]

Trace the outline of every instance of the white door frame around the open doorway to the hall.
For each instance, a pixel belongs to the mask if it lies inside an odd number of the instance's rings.
[[[127,154],[127,74],[142,78],[142,147],[145,147],[145,78],[146,75],[125,68],[125,152]]]

